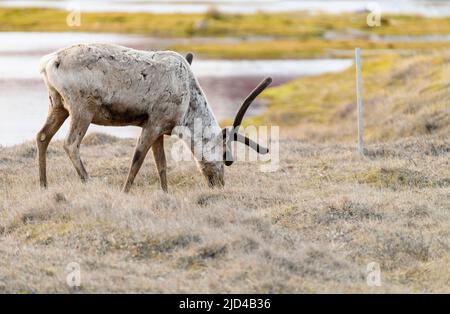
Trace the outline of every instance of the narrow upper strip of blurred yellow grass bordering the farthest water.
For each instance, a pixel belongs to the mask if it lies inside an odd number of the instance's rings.
[[[67,26],[66,17],[67,11],[64,10],[0,8],[0,30],[117,32],[162,37],[274,36],[297,39],[318,37],[331,30],[409,36],[450,32],[450,21],[446,17],[383,15],[383,27],[369,27],[366,13],[226,14],[216,10],[204,14],[83,12],[81,25],[77,28]]]

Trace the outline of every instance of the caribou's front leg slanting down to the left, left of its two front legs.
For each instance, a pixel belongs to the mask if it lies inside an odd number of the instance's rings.
[[[142,163],[144,162],[145,156],[147,156],[148,150],[152,147],[155,140],[159,137],[152,127],[145,126],[142,129],[141,136],[136,144],[136,149],[134,151],[133,161],[131,162],[130,171],[128,172],[128,178],[123,186],[123,192],[127,193],[130,191],[133,185],[134,178],[136,177],[139,169],[141,169]]]

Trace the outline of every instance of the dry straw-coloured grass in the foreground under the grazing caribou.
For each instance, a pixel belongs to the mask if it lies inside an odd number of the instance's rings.
[[[223,190],[169,160],[169,194],[151,158],[119,191],[132,148],[89,136],[82,184],[54,142],[48,190],[33,143],[0,148],[0,291],[70,292],[65,267],[78,262],[84,293],[450,292],[448,139],[361,158],[353,145],[282,138],[277,172],[237,163]],[[366,285],[373,261],[381,287]]]

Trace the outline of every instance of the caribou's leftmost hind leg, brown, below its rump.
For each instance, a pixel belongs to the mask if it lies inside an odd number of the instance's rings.
[[[36,143],[39,158],[39,182],[40,186],[47,187],[47,148],[53,136],[58,132],[61,125],[69,116],[64,109],[61,95],[54,89],[49,88],[49,111],[47,120],[36,136]]]

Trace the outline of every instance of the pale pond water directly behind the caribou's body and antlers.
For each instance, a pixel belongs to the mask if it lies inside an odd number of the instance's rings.
[[[38,73],[42,55],[77,42],[110,42],[130,47],[157,49],[158,40],[139,36],[84,33],[2,33],[0,32],[0,145],[32,140],[46,115],[48,97]],[[341,71],[352,65],[348,59],[316,60],[202,60],[194,59],[192,69],[199,78],[210,105],[218,118],[233,117],[241,101],[265,76],[273,85],[305,76]],[[249,115],[262,110],[252,105]],[[56,135],[64,137],[68,121]],[[139,128],[91,125],[120,137],[136,137]]]

